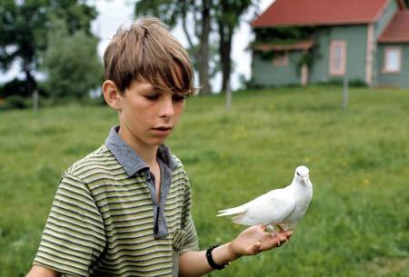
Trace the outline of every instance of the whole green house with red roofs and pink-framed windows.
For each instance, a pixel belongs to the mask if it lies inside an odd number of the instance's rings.
[[[369,86],[409,87],[403,0],[275,0],[252,25],[254,85],[342,82],[346,76]],[[298,36],[274,39],[294,29],[301,30]]]

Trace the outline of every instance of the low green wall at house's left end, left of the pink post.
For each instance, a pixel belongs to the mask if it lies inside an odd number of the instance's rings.
[[[288,65],[275,66],[273,59],[264,59],[260,54],[253,54],[252,76],[254,84],[263,86],[300,84],[301,75],[297,73],[298,61],[301,59],[300,51],[290,51]]]

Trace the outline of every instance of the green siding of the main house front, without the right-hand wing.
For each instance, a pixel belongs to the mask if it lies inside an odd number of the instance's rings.
[[[366,25],[344,25],[317,28],[315,42],[319,53],[308,75],[308,84],[342,80],[343,76],[329,74],[330,44],[333,40],[343,40],[346,44],[346,72],[349,80],[365,81],[366,70]],[[265,60],[254,52],[252,76],[254,84],[285,85],[300,84],[301,75],[297,73],[301,51],[289,53],[287,66],[274,66],[272,60]]]

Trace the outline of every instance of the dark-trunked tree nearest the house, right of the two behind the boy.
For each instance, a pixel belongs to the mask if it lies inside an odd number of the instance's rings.
[[[214,5],[218,25],[219,54],[222,64],[221,91],[226,92],[232,74],[232,41],[234,28],[240,23],[240,17],[252,5],[252,0],[218,0]]]

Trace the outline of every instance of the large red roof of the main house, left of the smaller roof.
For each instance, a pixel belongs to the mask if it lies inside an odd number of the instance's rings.
[[[254,19],[255,28],[373,23],[389,0],[275,0]],[[400,7],[403,2],[398,1]]]

